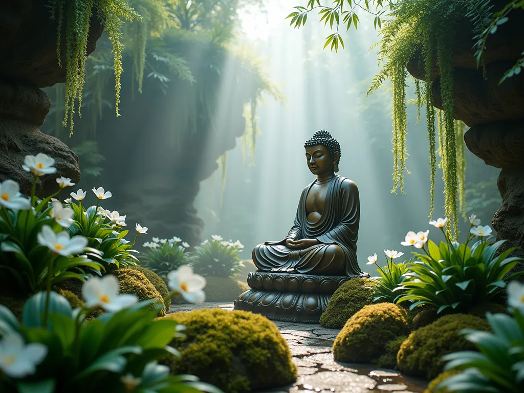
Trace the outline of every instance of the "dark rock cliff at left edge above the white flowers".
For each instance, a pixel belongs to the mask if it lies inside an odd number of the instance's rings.
[[[0,181],[14,179],[29,193],[32,177],[21,166],[26,155],[44,152],[56,160],[57,173],[43,176],[37,194],[58,189],[55,179],[80,180],[78,157],[57,138],[42,134],[51,102],[39,88],[65,82],[65,25],[61,31],[61,63],[57,59],[57,21],[50,19],[47,0],[0,3]],[[91,20],[87,53],[94,51],[103,27]]]

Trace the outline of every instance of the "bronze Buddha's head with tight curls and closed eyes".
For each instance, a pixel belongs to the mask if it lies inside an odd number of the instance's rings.
[[[311,173],[324,175],[339,171],[340,144],[330,133],[317,131],[304,147]]]

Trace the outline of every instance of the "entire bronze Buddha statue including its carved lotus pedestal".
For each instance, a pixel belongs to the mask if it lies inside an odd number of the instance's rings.
[[[340,145],[326,131],[306,141],[305,158],[316,180],[302,191],[286,238],[253,250],[258,271],[235,309],[291,322],[318,322],[332,294],[353,277],[369,277],[357,262],[360,203],[357,185],[338,176]]]

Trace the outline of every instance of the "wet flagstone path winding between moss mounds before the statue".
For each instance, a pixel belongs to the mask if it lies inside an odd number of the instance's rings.
[[[175,304],[171,306],[170,312],[203,308],[233,310],[233,303]],[[402,376],[395,370],[335,362],[331,347],[339,333],[337,329],[325,329],[310,323],[274,322],[289,344],[293,363],[298,367],[299,377],[293,385],[271,390],[272,393],[367,393],[370,391],[421,393],[424,391],[426,381]]]

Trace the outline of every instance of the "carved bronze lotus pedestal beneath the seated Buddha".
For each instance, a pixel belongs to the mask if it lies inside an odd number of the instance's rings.
[[[252,271],[247,276],[251,289],[235,300],[235,310],[255,312],[277,321],[318,323],[332,294],[349,279]]]

